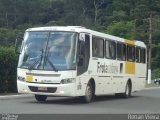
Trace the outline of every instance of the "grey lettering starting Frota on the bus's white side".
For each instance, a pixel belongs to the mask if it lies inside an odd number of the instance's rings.
[[[97,73],[118,73],[118,66],[97,62]]]

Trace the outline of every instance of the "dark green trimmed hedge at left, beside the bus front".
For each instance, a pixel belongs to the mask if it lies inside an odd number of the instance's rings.
[[[0,47],[0,93],[16,92],[16,67],[14,48]]]

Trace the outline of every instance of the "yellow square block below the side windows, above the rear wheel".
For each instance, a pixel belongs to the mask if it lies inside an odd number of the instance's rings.
[[[135,74],[135,62],[125,62],[125,73]]]

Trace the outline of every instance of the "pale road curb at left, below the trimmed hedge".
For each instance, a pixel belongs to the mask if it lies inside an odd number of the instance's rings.
[[[19,99],[19,98],[30,98],[30,97],[33,97],[33,95],[32,95],[32,94],[3,95],[3,96],[0,96],[0,100]]]

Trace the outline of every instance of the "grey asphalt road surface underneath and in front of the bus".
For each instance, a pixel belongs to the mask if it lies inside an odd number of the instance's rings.
[[[159,114],[160,88],[145,89],[129,99],[99,96],[90,104],[78,98],[50,97],[38,103],[34,97],[0,99],[0,113],[12,114]]]

